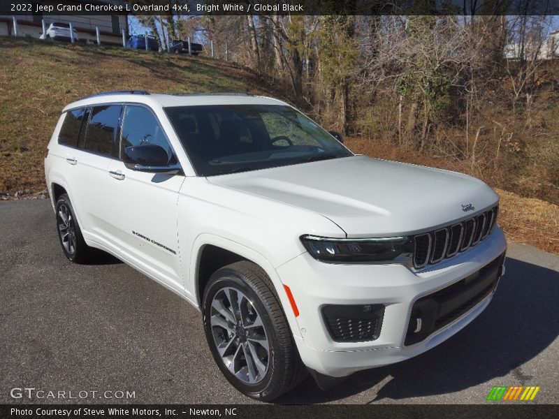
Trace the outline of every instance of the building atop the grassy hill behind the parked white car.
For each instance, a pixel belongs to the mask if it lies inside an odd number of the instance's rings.
[[[33,1],[31,6],[36,3],[48,3],[48,1]],[[67,0],[65,3],[82,3],[80,0]],[[115,3],[114,1],[89,0],[87,3]],[[9,8],[0,8],[0,36],[10,36],[14,34],[13,15],[6,12]],[[6,13],[6,14],[3,14]],[[122,30],[126,38],[129,36],[128,16],[126,15],[54,15],[38,12],[17,15],[17,35],[39,38],[43,34],[43,20],[48,25],[52,22],[72,23],[78,31],[80,42],[96,43],[96,28],[99,28],[101,43],[122,45]]]

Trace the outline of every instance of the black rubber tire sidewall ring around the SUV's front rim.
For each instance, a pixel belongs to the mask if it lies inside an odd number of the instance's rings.
[[[236,378],[225,366],[221,355],[217,352],[215,346],[214,337],[212,335],[212,328],[210,325],[210,309],[214,295],[222,288],[233,287],[237,288],[239,291],[244,293],[251,300],[252,304],[258,311],[259,316],[262,319],[264,329],[266,330],[266,337],[268,337],[268,345],[270,346],[270,351],[268,353],[268,371],[266,376],[262,381],[256,385],[249,385],[240,381]],[[206,340],[208,341],[208,346],[210,346],[210,351],[212,356],[217,363],[217,366],[224,374],[225,378],[231,383],[235,388],[243,392],[245,395],[252,397],[254,399],[266,399],[267,395],[275,390],[277,385],[276,375],[279,365],[278,351],[280,350],[279,342],[277,341],[277,336],[275,335],[273,321],[270,318],[270,313],[265,304],[263,304],[260,295],[254,288],[252,288],[247,281],[242,278],[242,273],[229,268],[223,268],[215,272],[210,278],[208,286],[205,289],[203,298],[203,325]]]

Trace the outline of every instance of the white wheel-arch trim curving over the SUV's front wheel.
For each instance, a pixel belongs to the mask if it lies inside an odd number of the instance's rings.
[[[284,307],[284,313],[289,322],[289,328],[291,328],[291,333],[293,336],[301,337],[300,328],[298,325],[297,318],[293,311],[289,309],[291,304],[289,303],[289,299],[284,292],[282,281],[279,279],[279,276],[270,263],[266,256],[263,256],[261,253],[246,247],[244,244],[240,244],[238,242],[234,242],[226,237],[222,237],[219,235],[213,235],[210,233],[201,233],[196,237],[194,240],[194,244],[192,245],[192,251],[190,256],[190,272],[189,272],[189,286],[187,287],[189,290],[193,290],[194,296],[192,296],[192,300],[195,300],[198,304],[198,309],[200,309],[202,302],[199,301],[198,298],[198,265],[200,263],[200,255],[202,254],[202,249],[206,245],[211,244],[216,247],[221,247],[222,249],[232,251],[233,253],[237,253],[238,255],[250,260],[256,265],[259,265],[264,272],[272,281],[272,284],[275,287],[275,291],[279,297],[279,302]],[[188,293],[188,291],[187,291]]]

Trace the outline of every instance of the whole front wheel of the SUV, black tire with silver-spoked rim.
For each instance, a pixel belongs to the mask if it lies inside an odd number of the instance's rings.
[[[203,323],[217,366],[249,397],[273,400],[307,374],[275,288],[254,263],[242,260],[212,274]]]

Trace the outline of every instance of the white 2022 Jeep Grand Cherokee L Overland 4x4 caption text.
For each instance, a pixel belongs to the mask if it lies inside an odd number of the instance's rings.
[[[10,3],[11,12],[31,12],[31,13],[152,13],[152,12],[173,12],[179,14],[187,13],[273,13],[273,12],[304,12],[302,4],[284,3],[254,3],[240,4],[220,3],[220,4],[201,4],[196,3],[192,6],[188,4],[141,4],[129,1],[123,4],[97,4],[97,3],[78,3],[78,4],[42,4],[42,3]]]

